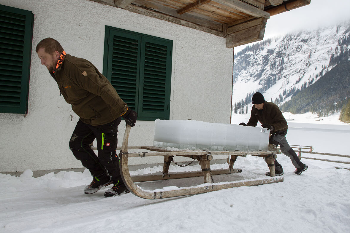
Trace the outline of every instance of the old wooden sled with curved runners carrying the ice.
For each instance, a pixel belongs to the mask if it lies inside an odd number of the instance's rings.
[[[142,197],[145,199],[160,199],[160,198],[168,198],[168,197],[201,194],[205,192],[217,191],[220,189],[228,189],[228,188],[235,188],[235,187],[241,187],[241,186],[253,186],[253,185],[260,185],[260,184],[270,184],[270,183],[283,181],[283,177],[273,177],[275,176],[274,159],[276,158],[277,150],[275,149],[275,147],[273,148],[270,145],[269,145],[268,151],[215,151],[215,152],[168,151],[166,148],[161,148],[161,147],[141,146],[141,147],[130,147],[130,149],[144,149],[144,150],[150,150],[155,152],[128,153],[127,144],[128,144],[130,129],[131,127],[127,125],[124,133],[123,144],[121,146],[121,150],[119,153],[119,159],[120,159],[119,168],[120,168],[121,178],[123,179],[127,189],[138,197]],[[212,154],[231,155],[229,169],[218,170],[218,171],[210,170],[210,160],[212,160]],[[180,176],[178,174],[173,174],[173,175],[169,174],[168,172],[169,165],[174,155],[197,159],[202,168],[202,172],[199,172],[199,173],[190,172],[190,173],[182,174]],[[272,177],[268,179],[222,182],[222,183],[214,183],[212,181],[213,174],[215,175],[215,174],[229,174],[229,173],[241,172],[240,169],[233,169],[233,164],[235,163],[237,156],[246,156],[246,155],[255,155],[259,157],[264,157],[264,160],[268,164]],[[164,156],[164,165],[163,165],[164,175],[131,177],[129,167],[128,167],[128,157],[145,157],[145,156]],[[179,188],[176,190],[148,191],[148,190],[141,189],[139,186],[135,185],[134,183],[134,182],[141,182],[141,181],[178,179],[178,178],[194,177],[194,176],[203,176],[204,184],[197,185],[196,187]]]

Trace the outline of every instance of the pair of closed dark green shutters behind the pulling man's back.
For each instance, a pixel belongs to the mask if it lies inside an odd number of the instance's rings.
[[[169,119],[173,42],[106,26],[103,74],[139,120]]]

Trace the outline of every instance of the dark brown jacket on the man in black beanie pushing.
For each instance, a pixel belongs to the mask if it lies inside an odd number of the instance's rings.
[[[283,117],[281,110],[272,102],[265,101],[261,113],[260,110],[256,109],[253,105],[247,126],[257,126],[258,121],[261,124],[267,123],[272,125],[273,131],[270,131],[271,134],[275,133],[276,131],[288,129],[287,121]]]

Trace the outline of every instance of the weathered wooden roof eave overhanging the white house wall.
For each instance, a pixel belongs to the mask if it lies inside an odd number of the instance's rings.
[[[179,0],[175,5],[173,0],[91,1],[222,36],[226,47],[233,48],[262,40],[270,16],[306,6],[311,0]],[[208,12],[211,9],[213,12]],[[221,15],[217,15],[217,9]]]

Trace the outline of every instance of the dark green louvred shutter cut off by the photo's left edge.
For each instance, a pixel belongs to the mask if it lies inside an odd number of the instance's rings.
[[[0,8],[0,112],[26,114],[34,15]]]

